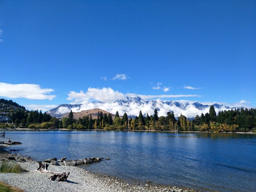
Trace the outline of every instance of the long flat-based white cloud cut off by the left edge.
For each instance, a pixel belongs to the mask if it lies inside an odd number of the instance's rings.
[[[41,88],[36,84],[9,84],[0,82],[0,96],[6,98],[26,98],[26,99],[49,99],[52,100],[56,95],[49,93],[54,91],[49,88]]]

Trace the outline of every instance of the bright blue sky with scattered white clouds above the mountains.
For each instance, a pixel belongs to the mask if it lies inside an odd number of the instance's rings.
[[[1,1],[0,97],[256,107],[256,1]]]

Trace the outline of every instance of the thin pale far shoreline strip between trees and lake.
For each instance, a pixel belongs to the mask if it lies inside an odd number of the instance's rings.
[[[203,131],[157,131],[157,130],[78,130],[78,129],[29,129],[29,128],[0,128],[0,130],[13,131],[143,131],[143,132],[172,132],[172,133],[240,133],[240,134],[256,134],[254,132],[203,132]]]

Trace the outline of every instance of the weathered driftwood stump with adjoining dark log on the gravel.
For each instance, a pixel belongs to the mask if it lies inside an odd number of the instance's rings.
[[[37,172],[53,174],[49,178],[52,181],[65,181],[67,179],[67,177],[69,177],[69,172],[68,173],[66,173],[66,172],[63,172],[63,173],[50,172],[50,171],[47,170],[49,164],[42,163],[41,161],[38,161],[38,164],[39,164],[39,168],[37,169]]]

